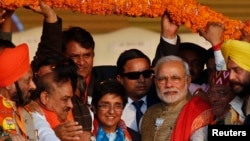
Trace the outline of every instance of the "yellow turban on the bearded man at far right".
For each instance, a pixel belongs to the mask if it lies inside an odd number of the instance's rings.
[[[250,43],[238,40],[226,40],[221,47],[225,62],[230,58],[244,70],[250,72]]]

